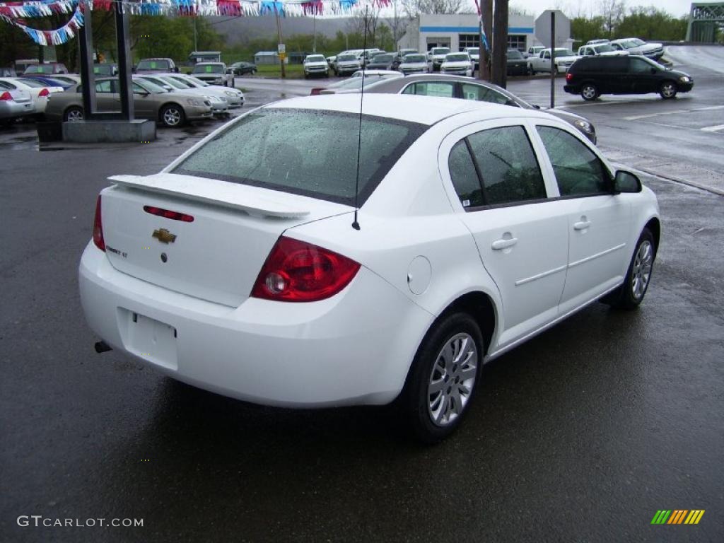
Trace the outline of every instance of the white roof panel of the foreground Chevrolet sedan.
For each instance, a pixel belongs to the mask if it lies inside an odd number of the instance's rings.
[[[264,109],[314,109],[319,111],[360,112],[360,94],[323,94],[304,96],[274,102]],[[555,118],[531,109],[513,108],[489,102],[460,100],[459,98],[438,98],[436,96],[411,96],[401,94],[369,94],[362,101],[362,113],[376,117],[387,117],[400,121],[434,125],[453,115],[469,111],[486,111],[490,118],[497,117],[541,117]]]

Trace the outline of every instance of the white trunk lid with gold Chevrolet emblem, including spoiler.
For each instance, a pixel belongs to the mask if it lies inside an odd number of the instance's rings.
[[[101,193],[101,216],[111,265],[231,307],[248,298],[285,230],[350,211],[340,203],[188,175],[110,180],[116,185]],[[193,222],[163,216],[163,210]]]

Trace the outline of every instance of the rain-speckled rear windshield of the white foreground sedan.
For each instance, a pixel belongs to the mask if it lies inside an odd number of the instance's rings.
[[[426,126],[339,111],[258,109],[198,148],[173,173],[361,205]]]

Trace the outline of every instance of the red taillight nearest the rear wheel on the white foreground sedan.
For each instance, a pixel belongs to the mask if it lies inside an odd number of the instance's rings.
[[[279,237],[251,290],[253,298],[316,302],[349,285],[360,265],[327,249]]]

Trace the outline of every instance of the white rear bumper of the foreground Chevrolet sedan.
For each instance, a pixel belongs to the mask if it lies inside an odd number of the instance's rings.
[[[248,298],[231,308],[123,274],[90,242],[79,285],[90,328],[114,349],[174,379],[265,405],[390,403],[433,319],[364,267],[328,300]],[[159,342],[156,352],[138,340],[144,334],[134,327],[148,319],[175,329],[170,347]]]

